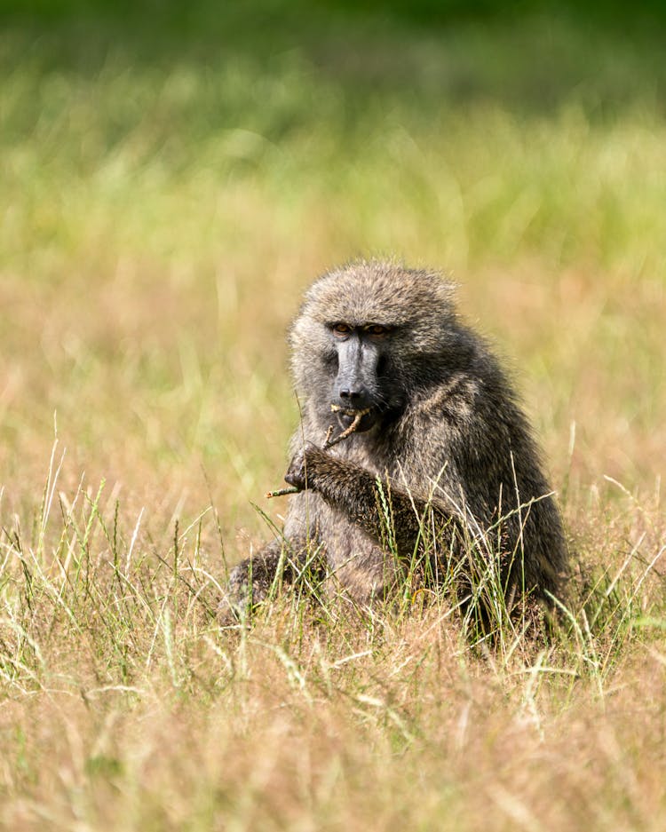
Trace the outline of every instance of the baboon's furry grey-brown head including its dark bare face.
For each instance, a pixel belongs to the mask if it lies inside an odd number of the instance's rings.
[[[291,329],[301,400],[359,431],[395,418],[417,387],[440,378],[456,313],[440,274],[378,261],[323,275]]]

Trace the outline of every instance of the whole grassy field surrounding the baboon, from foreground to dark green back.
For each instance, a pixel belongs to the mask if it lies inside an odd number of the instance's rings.
[[[659,28],[82,9],[0,34],[0,822],[664,828]],[[582,564],[547,648],[212,617],[300,292],[369,253],[515,369]]]

